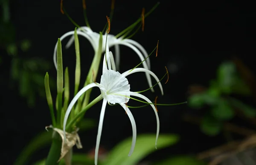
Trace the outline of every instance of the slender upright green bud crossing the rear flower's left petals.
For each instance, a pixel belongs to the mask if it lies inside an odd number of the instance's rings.
[[[75,28],[74,38],[75,38],[75,50],[76,50],[75,93],[74,93],[74,96],[75,96],[78,92],[80,76],[81,76],[79,40],[78,40],[76,28]]]

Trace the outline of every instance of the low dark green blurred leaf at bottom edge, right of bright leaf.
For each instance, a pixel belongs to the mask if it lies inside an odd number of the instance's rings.
[[[175,156],[161,162],[155,162],[153,165],[207,165],[206,162],[196,159],[193,156]]]

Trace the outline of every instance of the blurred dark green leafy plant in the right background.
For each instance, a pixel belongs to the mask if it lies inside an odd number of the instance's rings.
[[[256,109],[232,97],[234,95],[248,96],[250,89],[236,71],[236,65],[225,62],[219,66],[217,79],[210,82],[207,90],[189,97],[189,106],[192,108],[209,106],[209,111],[201,120],[201,130],[205,134],[219,134],[223,122],[233,119],[236,109],[249,118],[256,116]]]

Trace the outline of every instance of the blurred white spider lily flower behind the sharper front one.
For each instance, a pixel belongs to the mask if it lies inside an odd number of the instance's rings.
[[[62,35],[60,37],[60,40],[63,40],[64,38],[66,38],[67,36],[72,35],[72,37],[70,38],[70,40],[68,41],[66,48],[69,48],[71,46],[71,44],[74,42],[74,31],[69,31],[67,33],[65,33],[64,35]],[[89,40],[89,42],[91,43],[91,45],[93,46],[94,52],[97,52],[98,47],[99,47],[99,37],[100,34],[93,32],[91,30],[91,28],[88,28],[87,26],[82,26],[80,28],[77,29],[77,34],[81,35],[85,38],[87,38],[87,40]],[[106,34],[103,35],[103,40],[102,40],[102,53],[108,50],[105,50],[105,43],[106,43]],[[135,53],[140,57],[140,60],[143,61],[145,60],[146,57],[148,57],[148,53],[145,50],[145,48],[143,48],[143,46],[140,45],[140,43],[134,41],[134,40],[130,40],[130,39],[123,39],[122,37],[116,38],[114,35],[112,34],[108,34],[108,39],[107,39],[107,47],[111,48],[112,46],[114,46],[115,48],[115,60],[116,60],[116,68],[119,69],[119,63],[120,63],[120,49],[119,49],[119,45],[124,45],[124,46],[128,46],[129,48],[131,48],[132,50],[135,51]],[[53,62],[55,65],[55,68],[57,68],[57,60],[56,60],[56,55],[57,54],[57,43],[55,45],[54,48],[54,54],[53,54]],[[143,67],[147,70],[150,70],[150,60],[149,58],[146,59],[143,63]],[[151,77],[148,73],[146,74],[146,78],[148,80],[148,85],[149,87],[152,86],[152,82],[151,82]],[[151,88],[151,91],[154,92],[154,89]]]

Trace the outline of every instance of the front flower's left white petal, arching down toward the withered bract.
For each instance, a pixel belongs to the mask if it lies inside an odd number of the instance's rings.
[[[76,96],[73,98],[73,100],[70,102],[70,105],[68,105],[67,107],[67,111],[65,113],[64,116],[64,122],[63,122],[63,131],[64,131],[64,139],[66,139],[66,124],[67,124],[67,118],[73,108],[73,106],[75,105],[76,101],[79,99],[79,97],[81,97],[82,94],[84,94],[84,92],[86,92],[88,89],[93,88],[93,87],[99,87],[98,83],[91,83],[89,85],[86,85],[84,88],[82,88],[77,94]]]

